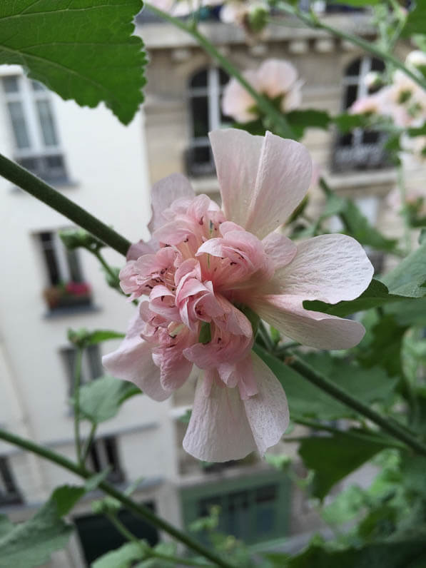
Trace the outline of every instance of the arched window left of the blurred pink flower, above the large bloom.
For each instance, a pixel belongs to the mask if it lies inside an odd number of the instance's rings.
[[[208,133],[230,123],[220,108],[223,87],[229,77],[216,67],[198,71],[189,82],[189,109],[191,142],[186,154],[186,168],[190,176],[210,176],[215,171]]]

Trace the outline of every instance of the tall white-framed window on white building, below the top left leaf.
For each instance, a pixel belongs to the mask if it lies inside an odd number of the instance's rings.
[[[1,83],[16,161],[46,181],[66,181],[49,91],[41,83],[22,75],[4,76]]]

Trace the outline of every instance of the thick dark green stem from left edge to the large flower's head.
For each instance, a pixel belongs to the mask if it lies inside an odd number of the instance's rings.
[[[29,171],[26,171],[26,169],[19,166],[19,164],[1,154],[0,176],[11,181],[15,186],[24,189],[24,191],[31,193],[31,196],[36,197],[55,211],[65,215],[67,218],[71,219],[73,223],[76,223],[76,225],[88,230],[89,233],[98,237],[103,243],[110,246],[118,253],[126,255],[131,245],[126,238],[122,237],[116,233],[115,230],[111,229],[111,227],[108,227],[85,209],[63,196],[62,193],[59,193],[59,191],[56,191],[56,189],[52,188],[44,181],[41,181],[41,179],[37,178]]]

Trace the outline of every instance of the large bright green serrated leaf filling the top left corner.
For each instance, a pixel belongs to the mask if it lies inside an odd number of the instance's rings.
[[[0,64],[18,64],[65,100],[103,101],[128,124],[143,101],[143,42],[132,36],[141,0],[0,3]]]

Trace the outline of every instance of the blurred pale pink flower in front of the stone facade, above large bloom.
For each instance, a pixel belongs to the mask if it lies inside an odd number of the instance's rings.
[[[298,81],[298,72],[288,61],[267,59],[257,71],[244,71],[243,76],[259,93],[269,98],[280,97],[280,108],[284,113],[300,106],[302,81]],[[241,123],[259,116],[254,98],[235,78],[225,86],[222,110],[226,116]]]

